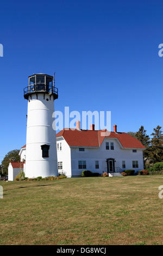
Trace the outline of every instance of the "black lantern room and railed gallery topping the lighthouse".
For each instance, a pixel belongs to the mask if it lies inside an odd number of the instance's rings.
[[[33,74],[28,77],[29,84],[24,88],[24,99],[29,99],[32,94],[43,93],[53,95],[54,100],[58,99],[58,88],[55,87],[55,78],[47,74]]]

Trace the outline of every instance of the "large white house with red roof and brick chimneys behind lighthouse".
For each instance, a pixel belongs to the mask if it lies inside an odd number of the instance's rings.
[[[125,169],[143,169],[143,150],[140,141],[125,132],[63,129],[57,133],[58,172],[68,177],[81,176],[83,170],[102,174],[118,173]],[[20,150],[21,161],[26,155],[26,145]]]

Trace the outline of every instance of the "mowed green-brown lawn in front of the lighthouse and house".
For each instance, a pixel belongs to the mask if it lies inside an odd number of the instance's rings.
[[[162,178],[1,181],[0,245],[162,245]]]

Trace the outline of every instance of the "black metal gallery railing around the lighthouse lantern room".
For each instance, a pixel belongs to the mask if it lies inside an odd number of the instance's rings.
[[[55,99],[58,99],[58,88],[54,86],[49,86],[45,84],[32,84],[24,88],[24,98],[27,99],[28,95],[34,93],[48,93],[55,96]]]

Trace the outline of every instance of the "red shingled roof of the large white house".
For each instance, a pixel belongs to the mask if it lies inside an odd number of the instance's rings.
[[[102,132],[107,132],[102,136]],[[77,130],[77,129],[63,129],[58,132],[57,137],[64,137],[65,141],[70,146],[76,147],[100,147],[104,138],[116,138],[121,143],[123,148],[140,148],[145,149],[138,139],[130,136],[125,132],[108,132],[107,130]]]

